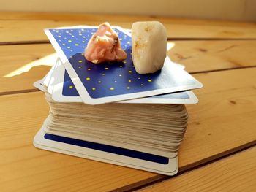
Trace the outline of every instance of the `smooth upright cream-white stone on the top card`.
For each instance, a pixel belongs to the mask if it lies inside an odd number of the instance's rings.
[[[166,46],[167,34],[162,23],[146,21],[132,24],[132,60],[139,74],[162,69]]]

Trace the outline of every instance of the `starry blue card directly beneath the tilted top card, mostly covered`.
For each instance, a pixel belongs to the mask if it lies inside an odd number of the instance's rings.
[[[53,78],[53,100],[58,102],[83,102],[79,96],[74,83],[69,77],[61,61],[57,61]],[[149,96],[140,99],[120,101],[121,103],[152,103],[152,104],[196,104],[197,97],[192,91],[181,91],[178,93],[167,93],[158,96]]]

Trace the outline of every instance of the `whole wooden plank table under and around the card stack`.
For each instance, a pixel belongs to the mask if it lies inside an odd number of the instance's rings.
[[[159,20],[204,88],[187,105],[180,172],[167,177],[39,150],[33,137],[48,115],[32,86],[54,63],[43,28],[108,21],[130,28]],[[256,191],[256,25],[126,15],[0,12],[0,191]]]

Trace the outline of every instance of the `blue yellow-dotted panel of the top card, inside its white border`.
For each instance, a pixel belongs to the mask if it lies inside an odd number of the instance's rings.
[[[58,43],[64,55],[69,60],[80,81],[83,83],[89,96],[93,99],[106,96],[118,96],[129,93],[142,93],[146,91],[165,90],[167,88],[179,88],[177,91],[188,90],[184,86],[195,85],[195,79],[189,74],[179,74],[175,70],[167,70],[165,67],[154,74],[138,74],[132,64],[131,37],[123,31],[114,28],[121,40],[121,47],[128,57],[121,62],[93,64],[84,58],[84,49],[97,31],[97,28],[63,28],[50,29],[50,33]],[[65,75],[66,78],[66,75]],[[66,81],[65,81],[66,82]],[[69,85],[68,88],[72,85]],[[64,89],[64,95],[76,95],[79,91]],[[167,91],[165,91],[166,93]],[[170,93],[171,91],[169,91]],[[154,93],[155,94],[155,93]],[[152,94],[151,94],[152,95]],[[138,96],[137,96],[138,97]]]

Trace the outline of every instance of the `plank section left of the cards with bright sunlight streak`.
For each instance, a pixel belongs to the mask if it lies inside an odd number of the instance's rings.
[[[0,95],[35,90],[33,82],[44,77],[56,61],[51,45],[0,46]]]

